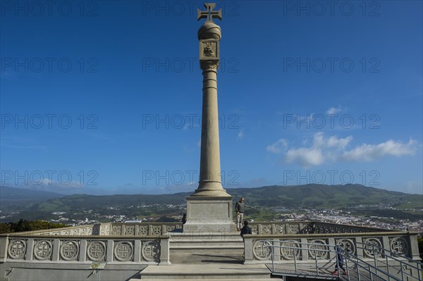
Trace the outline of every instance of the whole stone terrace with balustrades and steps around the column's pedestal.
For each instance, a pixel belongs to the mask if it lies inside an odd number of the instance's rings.
[[[102,223],[0,235],[0,280],[234,280],[269,279],[266,240],[289,242],[278,264],[312,263],[316,251],[338,244],[364,260],[372,245],[419,261],[417,233],[319,222],[252,223],[253,235],[182,232],[179,223]],[[364,246],[363,246],[364,245]],[[245,257],[243,257],[245,249]],[[319,258],[333,263],[333,254]],[[103,270],[92,263],[106,263]],[[172,279],[171,279],[172,278]]]

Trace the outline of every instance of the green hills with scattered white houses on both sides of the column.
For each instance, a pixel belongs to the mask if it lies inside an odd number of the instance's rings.
[[[226,191],[237,201],[240,196],[245,197],[247,208],[259,212],[264,208],[379,208],[379,204],[405,210],[406,208],[423,208],[422,194],[405,194],[391,192],[362,185],[298,185],[298,186],[269,186],[257,188],[236,188]],[[98,213],[102,216],[125,215],[130,218],[139,216],[171,215],[185,211],[185,197],[190,193],[176,194],[116,194],[94,196],[73,194],[52,198],[41,203],[29,204],[21,207],[17,215],[8,218],[9,221],[25,219],[54,218],[54,212],[66,212],[73,218],[95,218],[90,214]],[[171,206],[173,205],[173,206]],[[178,206],[177,206],[178,205]],[[404,216],[406,216],[405,213]]]

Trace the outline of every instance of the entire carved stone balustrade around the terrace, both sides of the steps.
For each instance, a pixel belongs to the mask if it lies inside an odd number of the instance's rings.
[[[251,223],[253,235],[245,236],[245,262],[266,263],[270,249],[264,240],[326,245],[339,244],[352,254],[372,258],[365,245],[382,246],[397,254],[418,258],[417,236],[409,232],[333,223],[287,221]],[[181,232],[181,223],[97,223],[0,235],[0,261],[168,263],[171,232]],[[358,246],[364,245],[364,249]],[[314,251],[281,249],[281,261],[314,258]],[[320,252],[323,253],[323,252]],[[327,253],[326,253],[327,254]],[[329,257],[331,258],[331,257]]]

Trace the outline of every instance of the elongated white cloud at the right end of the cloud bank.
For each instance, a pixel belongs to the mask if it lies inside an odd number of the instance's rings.
[[[415,155],[415,141],[410,139],[407,144],[396,142],[392,139],[381,144],[361,144],[342,155],[345,161],[369,162],[380,159],[384,156],[412,156]]]

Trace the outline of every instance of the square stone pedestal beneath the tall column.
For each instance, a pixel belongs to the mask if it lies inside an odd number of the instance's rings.
[[[235,232],[232,197],[187,197],[187,222],[183,232]]]

